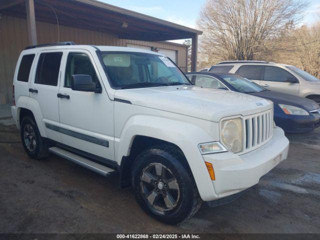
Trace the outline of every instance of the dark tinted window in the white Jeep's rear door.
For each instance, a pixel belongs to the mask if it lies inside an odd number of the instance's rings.
[[[56,86],[58,83],[62,52],[45,52],[39,56],[35,83]]]

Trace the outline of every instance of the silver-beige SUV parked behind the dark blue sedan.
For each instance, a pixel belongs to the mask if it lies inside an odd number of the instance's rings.
[[[320,79],[292,65],[266,61],[221,61],[211,72],[232,72],[269,90],[312,99],[320,104]]]

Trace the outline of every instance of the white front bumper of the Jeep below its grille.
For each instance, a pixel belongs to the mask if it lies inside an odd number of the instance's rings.
[[[207,192],[203,200],[216,200],[257,184],[261,176],[286,159],[288,148],[289,141],[283,130],[276,127],[269,142],[245,154],[222,152],[202,155],[205,161],[212,163],[215,174],[212,181],[215,194]]]

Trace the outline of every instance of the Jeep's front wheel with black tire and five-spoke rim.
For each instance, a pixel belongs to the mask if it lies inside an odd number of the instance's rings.
[[[155,167],[159,167],[159,165],[161,173],[164,171],[163,179],[159,178],[161,175],[156,173]],[[153,174],[152,167],[154,167]],[[150,172],[148,169],[151,169]],[[150,182],[153,183],[142,180],[145,178],[145,172],[148,177],[152,176]],[[157,180],[153,179],[155,175]],[[165,177],[170,179],[164,179]],[[169,145],[152,146],[136,157],[132,169],[132,185],[135,198],[141,208],[147,214],[164,223],[177,224],[190,218],[202,203],[184,155]],[[162,189],[160,193],[156,192],[159,189]],[[151,194],[158,194],[153,198],[154,201],[151,199],[152,204],[147,198]]]

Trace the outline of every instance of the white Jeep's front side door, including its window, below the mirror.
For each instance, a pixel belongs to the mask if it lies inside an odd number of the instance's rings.
[[[106,163],[114,161],[113,101],[101,86],[94,58],[85,50],[69,50],[64,65],[58,92],[62,143],[104,158]],[[90,75],[101,93],[72,90],[73,74]]]

